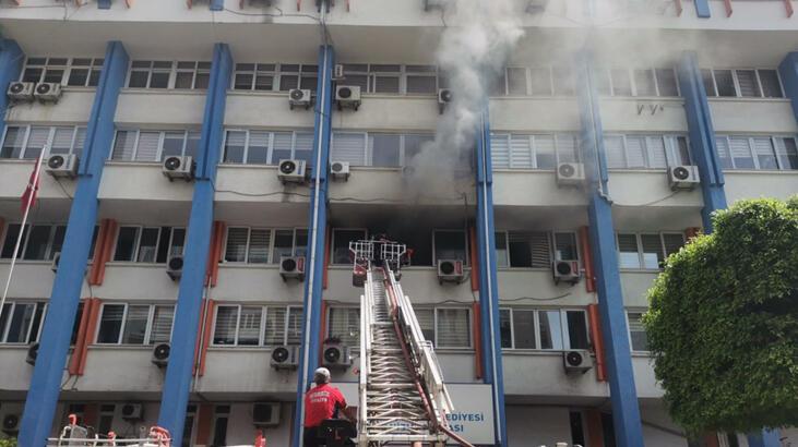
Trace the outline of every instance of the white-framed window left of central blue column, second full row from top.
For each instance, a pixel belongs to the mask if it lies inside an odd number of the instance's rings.
[[[302,159],[312,165],[311,132],[269,132],[228,130],[225,133],[223,162],[277,165],[282,159]]]

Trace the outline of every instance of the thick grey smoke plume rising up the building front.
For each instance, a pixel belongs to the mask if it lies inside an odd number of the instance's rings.
[[[471,184],[480,113],[489,86],[523,35],[512,0],[443,0],[446,27],[436,51],[453,99],[438,121],[434,140],[410,160],[408,186],[420,195],[452,196]],[[466,180],[467,179],[467,180]]]

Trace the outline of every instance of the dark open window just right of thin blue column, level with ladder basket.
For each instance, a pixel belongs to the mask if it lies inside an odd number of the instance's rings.
[[[499,231],[496,234],[498,266],[550,268],[555,258],[579,261],[576,234],[572,232]],[[504,245],[499,245],[500,242]]]

